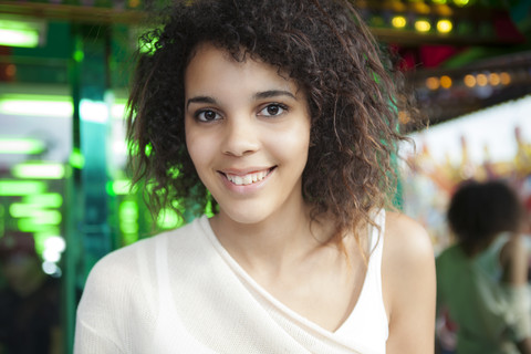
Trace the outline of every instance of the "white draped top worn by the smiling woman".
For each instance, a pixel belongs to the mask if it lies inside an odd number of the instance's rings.
[[[377,218],[382,235],[384,214]],[[75,354],[385,353],[383,237],[360,299],[335,332],[277,301],[222,248],[206,217],[104,257],[80,305]]]

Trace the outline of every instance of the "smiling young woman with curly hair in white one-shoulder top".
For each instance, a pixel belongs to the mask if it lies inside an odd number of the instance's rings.
[[[154,210],[205,210],[92,270],[81,353],[430,353],[435,268],[386,212],[403,92],[334,0],[180,1],[128,136]]]

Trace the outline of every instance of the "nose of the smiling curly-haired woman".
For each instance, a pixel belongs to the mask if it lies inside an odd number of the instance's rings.
[[[244,156],[258,150],[260,146],[259,127],[252,117],[227,119],[222,153],[231,156]]]

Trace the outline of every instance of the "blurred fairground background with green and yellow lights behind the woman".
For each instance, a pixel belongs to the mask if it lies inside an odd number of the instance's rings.
[[[21,345],[6,344],[13,333],[31,339],[32,315],[52,335],[24,353],[71,353],[94,262],[187,221],[170,210],[153,220],[125,170],[127,85],[146,9],[157,1],[0,1],[0,288],[9,294],[0,301],[20,310],[0,311],[0,354]],[[429,118],[415,131],[400,115],[416,152],[403,149],[398,200],[428,229],[436,253],[452,241],[445,212],[461,180],[508,180],[529,210],[531,0],[355,3],[402,58]],[[13,277],[34,285],[17,288]],[[32,300],[49,282],[60,295]],[[24,312],[37,303],[53,310]]]

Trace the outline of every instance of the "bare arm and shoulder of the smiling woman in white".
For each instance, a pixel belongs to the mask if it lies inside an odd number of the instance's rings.
[[[434,250],[426,230],[406,216],[387,214],[382,277],[389,319],[387,353],[434,353]]]

